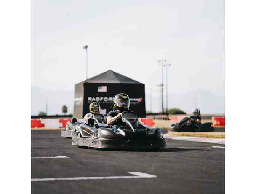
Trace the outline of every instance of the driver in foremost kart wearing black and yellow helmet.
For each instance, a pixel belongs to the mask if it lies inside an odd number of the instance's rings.
[[[112,125],[113,132],[115,133],[118,127],[124,126],[122,121],[122,112],[128,111],[130,107],[130,99],[127,94],[121,93],[115,95],[114,108],[107,114],[107,125]]]

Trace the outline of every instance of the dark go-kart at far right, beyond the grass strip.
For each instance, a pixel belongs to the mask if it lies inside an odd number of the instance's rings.
[[[176,132],[211,132],[215,131],[212,122],[206,122],[203,124],[196,124],[194,122],[187,122],[179,126],[179,123],[172,124],[171,130]]]

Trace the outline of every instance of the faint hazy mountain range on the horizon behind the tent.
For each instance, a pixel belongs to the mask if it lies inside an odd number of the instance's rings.
[[[160,94],[152,95],[150,106],[150,93],[145,93],[146,110],[152,112],[162,111]],[[67,114],[73,113],[74,91],[71,90],[50,90],[38,86],[31,86],[31,115],[38,115],[40,111],[48,115],[62,115],[61,107],[66,105]],[[151,108],[150,108],[151,107]],[[164,94],[164,110],[166,98]],[[180,108],[186,113],[192,113],[195,107],[201,109],[202,114],[225,113],[225,96],[215,95],[211,91],[198,89],[182,93],[171,92],[168,94],[168,108]]]

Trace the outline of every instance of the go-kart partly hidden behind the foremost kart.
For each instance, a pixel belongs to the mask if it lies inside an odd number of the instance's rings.
[[[96,123],[103,123],[104,122],[104,115],[103,114],[98,114],[95,113],[93,114],[93,120]],[[78,127],[80,125],[86,125],[86,123],[83,122],[77,122],[76,118],[72,118],[71,121],[67,122],[65,130],[61,131],[61,137],[67,137],[67,138],[72,138],[72,137],[77,137],[78,133]]]

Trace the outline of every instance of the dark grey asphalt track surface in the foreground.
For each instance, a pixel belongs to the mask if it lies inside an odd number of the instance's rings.
[[[72,146],[71,139],[61,137],[60,130],[31,130],[32,179],[134,176],[128,172],[156,176],[31,181],[31,192],[33,194],[225,192],[225,148],[221,148],[225,145],[170,139],[166,142],[167,148],[159,151],[98,150]],[[54,156],[69,158],[54,158]]]

